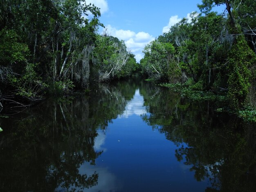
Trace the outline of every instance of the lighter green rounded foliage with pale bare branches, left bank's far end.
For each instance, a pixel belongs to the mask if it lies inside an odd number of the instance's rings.
[[[106,32],[97,36],[93,56],[94,76],[99,82],[131,76],[138,69],[135,55],[130,54],[124,41]]]

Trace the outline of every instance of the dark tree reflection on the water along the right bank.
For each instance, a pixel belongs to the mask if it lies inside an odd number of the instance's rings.
[[[216,113],[218,103],[191,102],[170,89],[141,93],[150,112],[143,120],[177,145],[177,160],[191,166],[197,181],[209,178],[206,191],[256,191],[255,124]]]

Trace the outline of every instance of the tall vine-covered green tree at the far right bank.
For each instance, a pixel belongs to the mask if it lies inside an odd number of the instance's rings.
[[[255,83],[255,76],[252,76],[252,70],[254,70],[253,66],[256,66],[256,55],[252,54],[242,31],[243,22],[241,20],[243,20],[243,18],[241,18],[241,16],[245,15],[246,11],[248,11],[248,16],[245,16],[245,23],[247,23],[248,26],[250,24],[255,25],[254,22],[248,21],[250,15],[254,15],[254,13],[252,13],[250,9],[245,9],[244,6],[240,6],[240,4],[243,4],[242,1],[240,3],[234,0],[211,0],[206,2],[209,2],[209,4],[215,3],[216,5],[225,4],[229,15],[229,33],[234,36],[234,42],[229,52],[228,64],[229,97],[231,98],[233,108],[241,108],[245,105],[245,101],[248,97],[249,88],[251,87],[250,83]],[[252,3],[252,8],[256,6],[255,2],[245,0],[245,4],[249,5],[249,3]],[[252,20],[253,18],[255,18],[255,16],[251,17]],[[253,32],[253,30],[251,31]],[[254,44],[254,42],[252,42],[252,44]]]

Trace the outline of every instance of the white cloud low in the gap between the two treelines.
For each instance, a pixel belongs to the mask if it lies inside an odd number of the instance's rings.
[[[125,41],[127,48],[132,52],[132,54],[135,54],[135,59],[137,62],[143,58],[142,50],[145,45],[155,39],[149,33],[144,31],[135,33],[134,31],[130,30],[116,29],[111,25],[107,25],[106,30],[109,35]]]

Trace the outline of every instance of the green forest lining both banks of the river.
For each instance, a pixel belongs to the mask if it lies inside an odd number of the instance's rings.
[[[137,63],[123,40],[99,34],[104,25],[94,4],[2,0],[0,110],[141,74],[167,87],[225,96],[227,110],[256,121],[256,1],[202,0],[198,8],[146,45]]]

